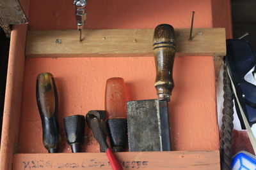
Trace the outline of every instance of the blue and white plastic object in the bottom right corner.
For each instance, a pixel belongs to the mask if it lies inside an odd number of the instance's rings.
[[[251,153],[241,151],[232,158],[232,170],[256,170],[256,157]]]

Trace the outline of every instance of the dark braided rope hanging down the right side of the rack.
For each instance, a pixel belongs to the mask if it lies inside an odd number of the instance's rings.
[[[233,114],[234,114],[234,95],[231,89],[230,79],[228,78],[227,65],[224,64],[223,72],[223,118],[221,125],[220,154],[221,154],[221,170],[230,170],[231,165],[231,146],[233,135]]]

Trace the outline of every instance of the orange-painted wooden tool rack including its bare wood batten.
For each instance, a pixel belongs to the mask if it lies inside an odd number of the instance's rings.
[[[103,0],[90,1],[88,29],[83,31],[84,40],[80,43],[79,33],[70,30],[76,28],[72,2],[24,0],[21,3],[29,15],[29,27],[14,25],[11,35],[0,169],[111,169],[105,153],[96,153],[99,145],[88,127],[84,153],[71,153],[62,119],[85,115],[90,110],[104,110],[106,80],[115,76],[124,78],[129,100],[156,98],[154,27],[164,22],[182,27],[180,20],[189,18],[190,14],[173,15],[167,9],[175,10],[182,3],[167,0],[156,6],[154,1],[148,4],[108,1],[113,10],[103,8],[107,6]],[[189,11],[189,5],[195,6],[189,1],[183,10]],[[200,4],[198,13],[211,7],[204,5]],[[151,14],[155,8],[163,8],[165,12]],[[111,20],[104,17],[106,13]],[[211,27],[207,18],[195,21],[200,23],[196,27]],[[189,27],[189,21],[186,23]],[[52,29],[56,30],[49,31]],[[124,169],[220,169],[212,56],[225,55],[225,29],[194,29],[192,41],[188,41],[189,29],[175,29],[175,32],[175,87],[169,103],[173,151],[116,153]],[[42,72],[50,72],[56,79],[61,153],[49,154],[42,144],[35,97],[36,76]]]

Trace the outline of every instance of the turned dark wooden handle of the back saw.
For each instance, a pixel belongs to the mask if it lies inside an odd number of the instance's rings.
[[[154,58],[156,62],[155,87],[159,100],[170,101],[174,87],[172,71],[175,58],[175,34],[172,25],[158,25],[153,39]]]

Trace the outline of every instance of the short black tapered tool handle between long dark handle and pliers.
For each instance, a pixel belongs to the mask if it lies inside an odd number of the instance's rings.
[[[63,122],[68,145],[71,146],[72,152],[81,152],[81,146],[84,141],[84,116],[73,115],[65,117]]]

